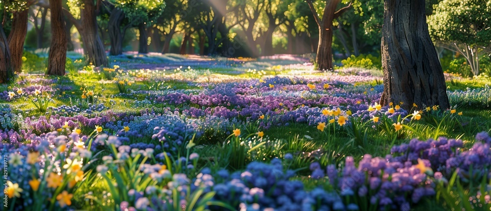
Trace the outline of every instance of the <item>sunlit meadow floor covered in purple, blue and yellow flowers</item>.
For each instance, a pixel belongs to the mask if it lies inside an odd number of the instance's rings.
[[[450,110],[406,111],[377,104],[377,69],[109,60],[0,87],[8,209],[491,209],[487,76],[445,74]]]

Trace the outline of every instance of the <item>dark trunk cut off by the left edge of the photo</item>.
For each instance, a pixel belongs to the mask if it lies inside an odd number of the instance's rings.
[[[0,84],[9,83],[14,79],[14,68],[11,62],[7,36],[0,25]]]

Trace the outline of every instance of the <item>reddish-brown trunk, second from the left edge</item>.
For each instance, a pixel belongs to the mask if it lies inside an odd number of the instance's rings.
[[[22,52],[24,51],[24,41],[26,40],[28,16],[29,9],[14,12],[12,30],[7,38],[15,72],[22,71]]]

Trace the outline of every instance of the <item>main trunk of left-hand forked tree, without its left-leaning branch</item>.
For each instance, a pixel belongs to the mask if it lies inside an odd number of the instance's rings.
[[[88,56],[88,61],[95,66],[106,66],[108,65],[108,58],[97,32],[94,1],[83,0],[83,2],[84,7],[80,9],[81,28],[77,29],[82,37],[83,51]]]

